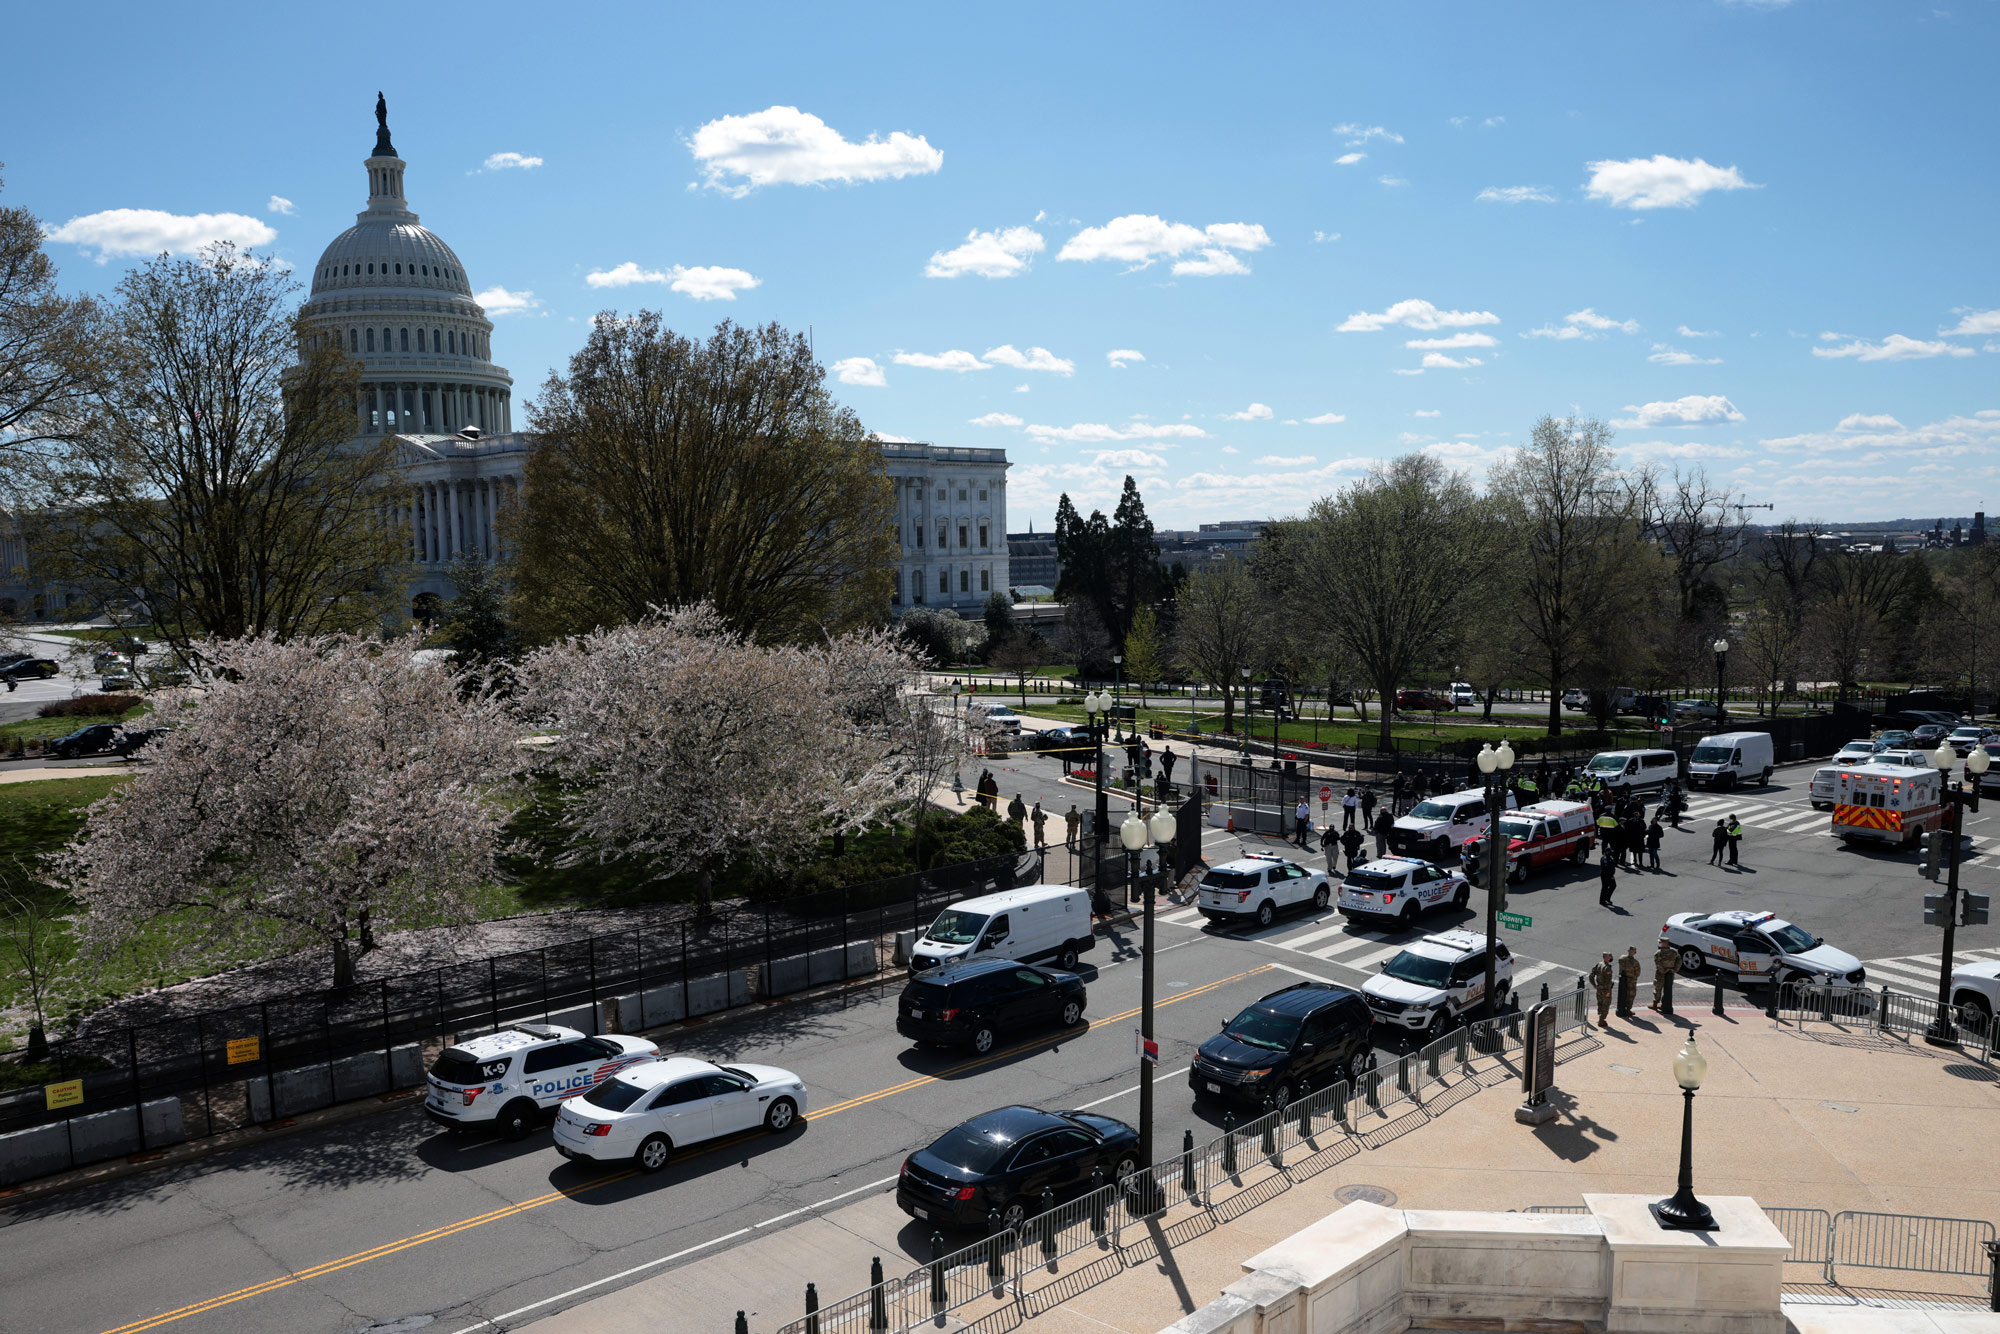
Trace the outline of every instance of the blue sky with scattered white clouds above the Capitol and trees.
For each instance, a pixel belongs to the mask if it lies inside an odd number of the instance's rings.
[[[518,398],[606,308],[810,326],[872,430],[1004,446],[1014,530],[1570,408],[1780,518],[1950,516],[2000,510],[2000,14],[1946,4],[42,6],[0,158],[74,288],[310,270],[380,88]]]

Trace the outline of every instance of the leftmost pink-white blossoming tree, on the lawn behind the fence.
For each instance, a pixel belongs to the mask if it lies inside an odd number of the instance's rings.
[[[174,916],[186,954],[316,946],[348,986],[374,932],[472,916],[522,768],[496,696],[416,636],[198,648],[204,684],[160,698],[150,768],[56,856],[90,946]]]

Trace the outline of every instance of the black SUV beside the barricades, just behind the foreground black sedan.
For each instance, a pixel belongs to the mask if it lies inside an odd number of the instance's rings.
[[[1296,982],[1222,1026],[1188,1066],[1196,1098],[1282,1108],[1310,1088],[1374,1070],[1368,1002],[1332,982]]]

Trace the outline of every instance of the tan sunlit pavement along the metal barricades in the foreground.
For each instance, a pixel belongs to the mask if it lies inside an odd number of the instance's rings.
[[[1066,1264],[1068,1274],[1030,1302],[1030,1314],[1060,1302],[1032,1326],[1036,1334],[1166,1328],[1240,1278],[1248,1256],[1354,1198],[1510,1210],[1574,1206],[1584,1192],[1672,1194],[1682,1118],[1672,1058],[1690,1022],[1708,1056],[1694,1104],[1696,1192],[1828,1212],[2000,1218],[2000,1162],[1984,1152],[2000,1128],[1994,1070],[1920,1042],[1774,1030],[1748,1010],[1686,1014],[1680,1026],[1646,1018],[1594,1030],[1594,1040],[1558,1066],[1556,1122],[1534,1130],[1516,1124],[1512,1082],[1434,1116],[1404,1112],[1364,1136],[1358,1152],[1308,1168],[1312,1174],[1290,1170],[1288,1190],[1234,1220],[1132,1230],[1122,1258],[1072,1258],[1076,1268]],[[882,1256],[892,1276],[928,1260],[928,1228],[912,1224],[892,1194],[760,1234],[524,1328],[652,1334],[698,1320],[726,1330],[742,1308],[752,1330],[770,1334],[804,1314],[806,1282],[820,1286],[826,1306],[862,1290],[872,1256]],[[1882,1288],[1982,1292],[1968,1278],[1864,1274]],[[1788,1276],[1796,1292],[1834,1292],[1816,1266],[1788,1266]],[[978,1328],[1020,1324],[1022,1312],[1010,1304]],[[962,1326],[948,1320],[936,1328]]]

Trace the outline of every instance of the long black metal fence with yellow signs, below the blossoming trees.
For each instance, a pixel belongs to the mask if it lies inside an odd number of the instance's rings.
[[[86,1028],[50,1042],[46,1060],[0,1058],[0,1186],[414,1088],[440,1046],[508,1022],[656,1028],[872,976],[890,966],[896,932],[1038,876],[1032,856],[1008,854],[340,990]]]

